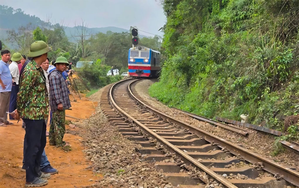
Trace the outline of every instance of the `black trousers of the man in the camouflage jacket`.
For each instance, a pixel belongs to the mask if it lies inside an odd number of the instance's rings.
[[[23,119],[26,124],[24,142],[27,142],[25,152],[26,182],[32,182],[40,176],[40,161],[46,146],[45,120]]]

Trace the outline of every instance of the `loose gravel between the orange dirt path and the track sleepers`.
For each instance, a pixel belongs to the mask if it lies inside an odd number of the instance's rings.
[[[100,101],[100,89],[91,100]],[[173,187],[165,181],[163,171],[154,168],[154,163],[143,162],[144,155],[137,152],[141,147],[128,140],[102,113],[100,105],[87,120],[76,122],[77,134],[84,138],[87,161],[92,165],[95,178],[86,187],[98,188],[164,188]],[[102,178],[103,177],[103,178]]]

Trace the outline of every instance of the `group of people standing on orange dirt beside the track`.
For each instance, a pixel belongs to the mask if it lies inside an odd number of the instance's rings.
[[[51,167],[45,155],[46,126],[51,109],[49,143],[65,147],[65,109],[71,107],[68,87],[62,73],[69,65],[65,57],[58,57],[51,70],[48,52],[51,48],[43,41],[30,46],[28,60],[19,53],[10,58],[10,51],[1,51],[0,60],[0,126],[13,124],[7,120],[22,118],[25,128],[24,160],[25,187],[47,185],[50,174],[58,172]],[[12,61],[10,64],[10,60]]]

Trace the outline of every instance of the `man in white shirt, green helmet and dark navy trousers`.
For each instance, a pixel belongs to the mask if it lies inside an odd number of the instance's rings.
[[[23,59],[20,53],[14,53],[11,60],[13,62],[9,65],[9,71],[11,76],[13,77],[13,85],[10,92],[10,103],[9,103],[9,112],[13,112],[17,109],[17,93],[19,92],[19,67],[18,63],[20,63],[21,59]],[[9,115],[10,120],[14,120],[14,118]]]

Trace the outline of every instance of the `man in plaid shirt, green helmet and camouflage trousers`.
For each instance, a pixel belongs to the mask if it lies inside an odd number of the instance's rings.
[[[54,63],[55,70],[49,74],[50,106],[52,120],[49,130],[49,143],[52,146],[68,146],[63,141],[65,133],[65,109],[71,107],[68,98],[68,86],[66,85],[62,72],[69,65],[65,57],[58,57]]]

